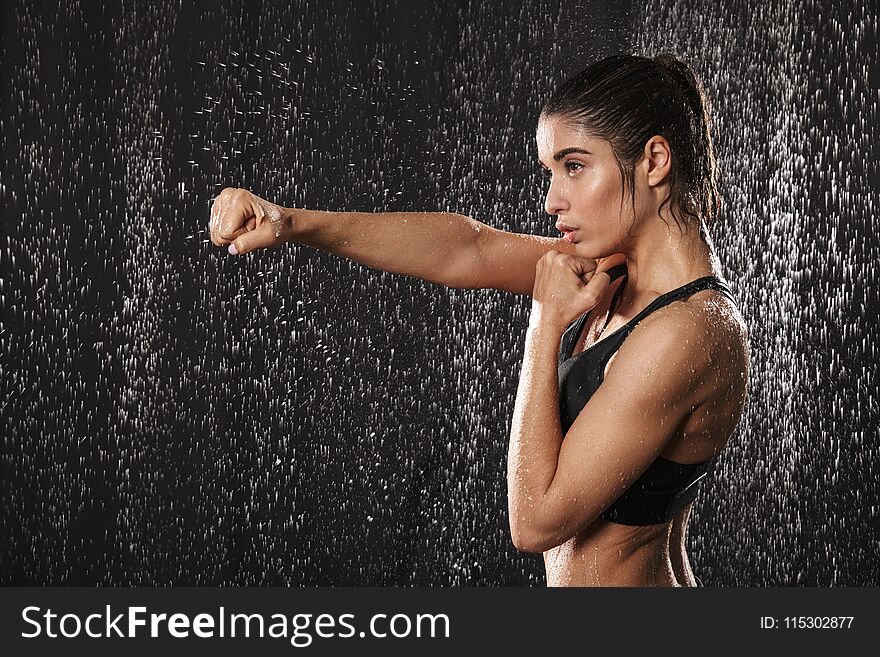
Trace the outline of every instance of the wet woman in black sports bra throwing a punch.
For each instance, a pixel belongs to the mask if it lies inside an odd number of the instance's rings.
[[[544,553],[549,585],[694,586],[688,514],[748,377],[706,228],[718,194],[704,93],[672,56],[604,59],[545,105],[537,144],[562,239],[448,213],[283,208],[240,189],[215,200],[211,238],[232,254],[295,241],[531,294],[508,455],[514,544]]]

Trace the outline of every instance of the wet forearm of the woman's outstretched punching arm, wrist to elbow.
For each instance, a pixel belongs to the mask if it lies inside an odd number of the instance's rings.
[[[449,212],[291,210],[292,241],[367,267],[449,287],[477,286],[481,233],[489,227]]]

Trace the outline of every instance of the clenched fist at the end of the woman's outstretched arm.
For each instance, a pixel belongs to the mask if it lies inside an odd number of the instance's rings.
[[[293,230],[293,211],[246,189],[227,187],[211,206],[211,241],[232,255],[278,246]]]

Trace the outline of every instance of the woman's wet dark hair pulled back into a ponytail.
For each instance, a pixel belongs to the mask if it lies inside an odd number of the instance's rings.
[[[669,195],[659,210],[670,206],[678,224],[677,207],[684,215],[685,230],[687,218],[709,222],[717,215],[718,169],[708,101],[693,70],[675,56],[602,59],[564,82],[541,114],[571,118],[590,134],[608,140],[633,206],[635,165],[651,137],[664,137],[672,150],[672,164]]]

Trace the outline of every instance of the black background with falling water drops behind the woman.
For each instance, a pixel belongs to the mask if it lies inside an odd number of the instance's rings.
[[[541,102],[669,50],[715,100],[752,338],[694,569],[876,585],[876,46],[867,5],[806,0],[4,3],[0,583],[543,583],[504,476],[528,300],[231,258],[208,208],[554,234]]]

